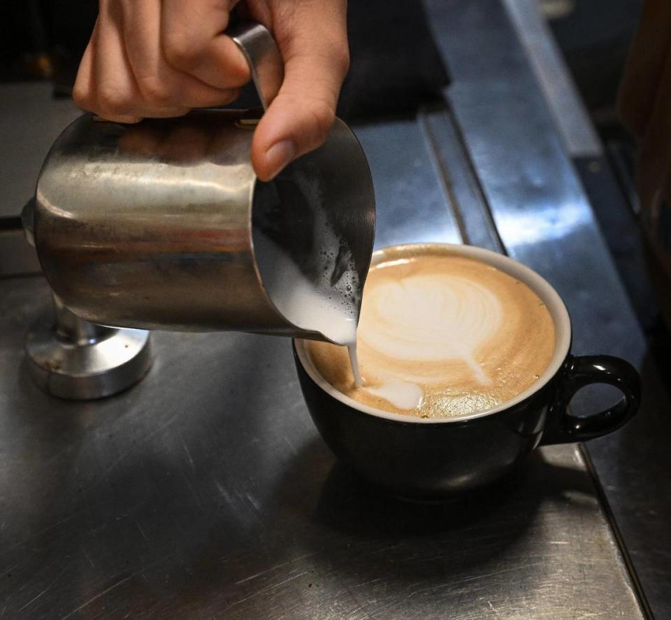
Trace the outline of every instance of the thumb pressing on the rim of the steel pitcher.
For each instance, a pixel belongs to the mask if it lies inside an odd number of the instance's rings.
[[[321,146],[335,118],[338,94],[349,66],[347,38],[333,41],[301,33],[294,53],[284,54],[284,82],[259,122],[252,140],[252,164],[270,181],[299,155]]]

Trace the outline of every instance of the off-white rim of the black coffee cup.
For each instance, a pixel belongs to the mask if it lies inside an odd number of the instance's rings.
[[[557,374],[563,365],[570,349],[570,316],[568,314],[568,309],[566,309],[566,306],[559,294],[540,274],[537,274],[537,272],[533,271],[533,269],[526,267],[526,265],[523,265],[517,260],[514,260],[506,255],[487,250],[486,248],[441,243],[399,244],[396,246],[381,248],[380,250],[377,250],[373,253],[370,266],[373,267],[380,262],[384,262],[387,253],[394,252],[395,255],[398,255],[399,251],[406,255],[417,255],[417,253],[431,251],[432,253],[438,252],[444,254],[456,254],[466,256],[468,258],[475,258],[476,260],[482,260],[482,262],[486,262],[487,264],[500,269],[502,272],[514,277],[515,279],[524,282],[526,286],[531,288],[531,290],[533,290],[533,292],[536,293],[538,297],[540,297],[542,302],[544,302],[554,322],[555,347],[549,365],[544,370],[543,374],[541,374],[541,376],[534,383],[532,383],[531,386],[526,388],[526,390],[519,393],[510,400],[502,402],[496,407],[490,407],[489,409],[477,411],[474,414],[468,414],[466,416],[458,416],[454,418],[419,418],[417,416],[395,414],[391,411],[384,411],[384,409],[370,407],[370,405],[357,402],[353,398],[350,398],[339,390],[336,390],[328,381],[326,381],[326,379],[324,379],[324,377],[322,377],[321,374],[319,374],[319,372],[317,372],[317,369],[315,368],[315,365],[312,363],[310,355],[308,354],[306,347],[308,341],[305,339],[294,339],[294,350],[296,351],[296,357],[301,362],[301,366],[308,374],[308,376],[310,376],[310,379],[317,383],[317,386],[322,388],[324,392],[335,398],[335,400],[339,400],[342,402],[342,404],[347,405],[347,407],[351,407],[352,409],[356,409],[357,411],[361,411],[364,414],[369,414],[377,418],[384,418],[385,420],[394,422],[414,424],[451,424],[474,420],[477,418],[484,418],[486,416],[497,414],[500,411],[510,409],[511,407],[514,407],[520,402],[523,402],[524,400],[527,400],[529,397],[533,396],[544,386],[546,386],[547,383]]]

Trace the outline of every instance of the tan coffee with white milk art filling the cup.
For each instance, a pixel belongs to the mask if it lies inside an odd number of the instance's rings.
[[[310,342],[308,351],[324,379],[354,400],[438,418],[526,390],[549,365],[555,332],[540,297],[486,262],[386,251],[368,274],[356,343],[360,388],[347,349]]]

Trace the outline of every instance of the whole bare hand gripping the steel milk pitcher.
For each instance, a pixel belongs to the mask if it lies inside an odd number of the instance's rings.
[[[117,122],[228,104],[250,80],[222,34],[238,0],[100,0],[73,91],[85,110]],[[346,0],[247,0],[275,36],[284,83],[254,132],[252,164],[269,181],[329,134],[349,65]]]

